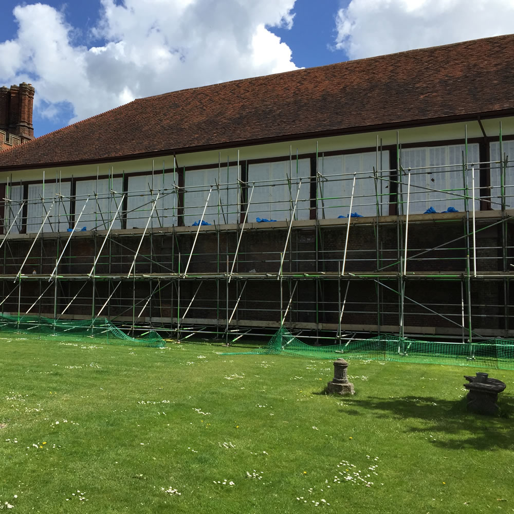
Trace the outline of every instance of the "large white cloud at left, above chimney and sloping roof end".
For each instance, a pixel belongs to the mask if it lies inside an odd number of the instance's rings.
[[[101,0],[91,34],[45,4],[17,6],[16,38],[0,43],[0,83],[31,82],[35,108],[70,122],[134,98],[295,69],[291,50],[268,26],[291,27],[295,0]],[[69,110],[69,109],[68,109]]]

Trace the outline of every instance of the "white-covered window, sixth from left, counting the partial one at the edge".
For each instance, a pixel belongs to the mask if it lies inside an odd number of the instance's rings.
[[[300,180],[301,179],[301,180]],[[295,219],[309,219],[310,159],[250,164],[248,167],[248,198],[253,183],[248,221],[256,218],[291,219],[298,189]]]

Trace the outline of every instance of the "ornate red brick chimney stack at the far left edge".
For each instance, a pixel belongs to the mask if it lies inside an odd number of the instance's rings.
[[[34,88],[22,82],[0,87],[0,150],[34,139],[32,107]]]

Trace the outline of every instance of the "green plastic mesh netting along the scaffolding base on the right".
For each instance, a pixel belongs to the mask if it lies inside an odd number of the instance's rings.
[[[448,343],[384,334],[347,343],[316,346],[302,342],[283,327],[271,337],[266,347],[237,353],[289,354],[319,359],[354,357],[514,370],[514,341],[506,339],[491,339],[481,343]]]

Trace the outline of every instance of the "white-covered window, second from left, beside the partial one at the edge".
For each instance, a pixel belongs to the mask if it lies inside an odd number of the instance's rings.
[[[29,184],[27,233],[38,232],[45,218],[44,232],[66,232],[70,220],[69,195],[70,182]]]

